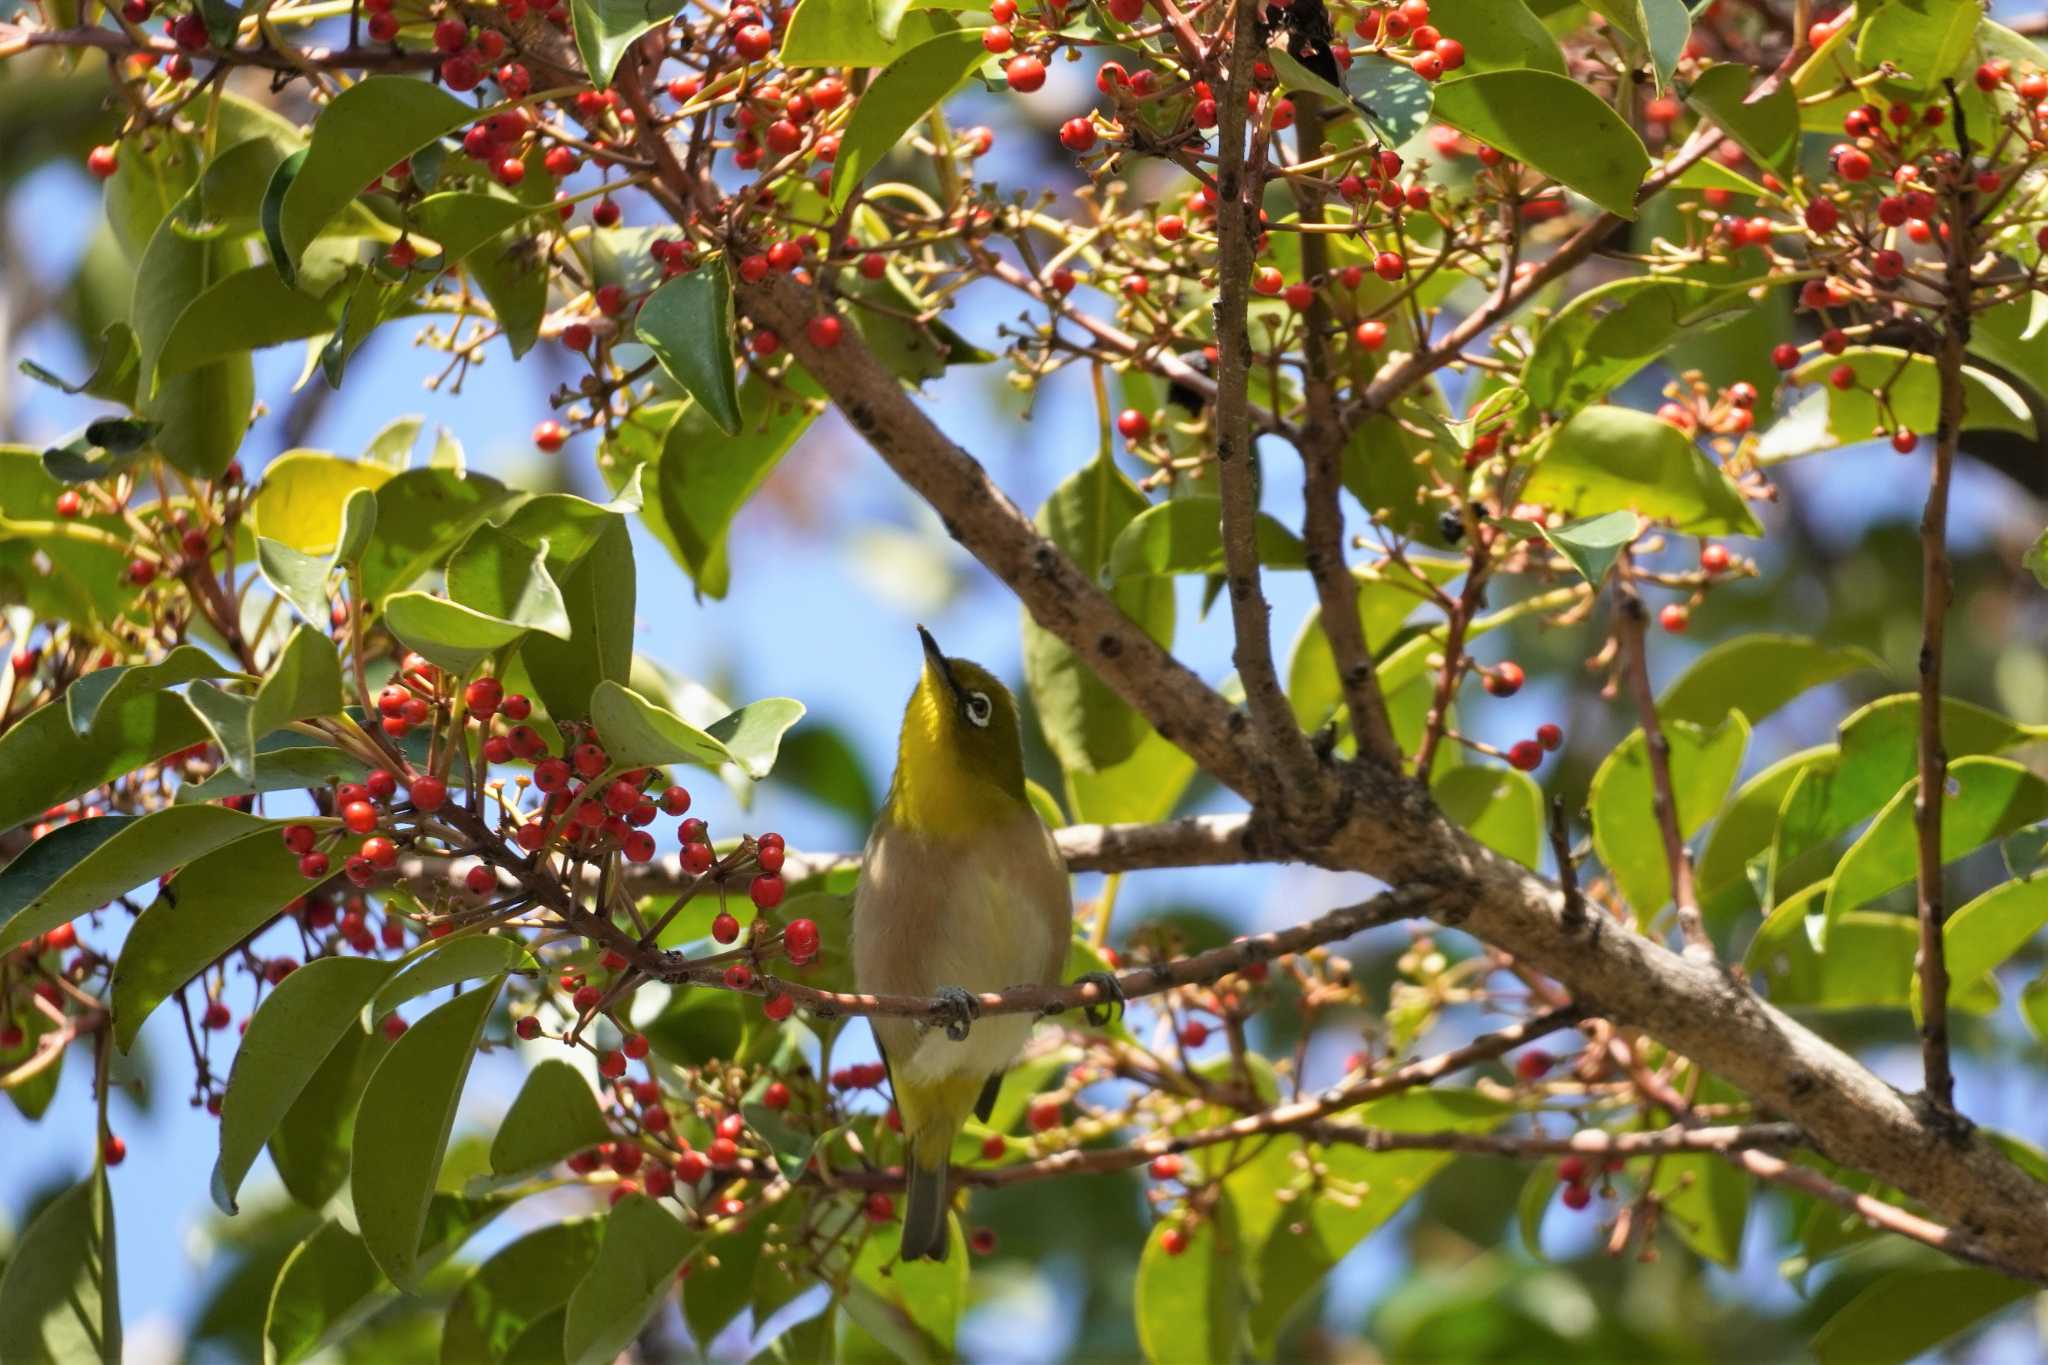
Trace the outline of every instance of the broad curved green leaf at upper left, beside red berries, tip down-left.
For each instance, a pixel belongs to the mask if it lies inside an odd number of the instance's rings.
[[[305,160],[279,199],[274,262],[295,270],[313,237],[365,184],[471,119],[469,104],[424,80],[365,76],[342,90],[313,121]]]

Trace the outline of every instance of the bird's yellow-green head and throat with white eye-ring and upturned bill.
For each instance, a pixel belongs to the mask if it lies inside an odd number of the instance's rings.
[[[924,626],[918,636],[924,675],[903,710],[899,786],[936,794],[985,784],[1024,800],[1024,739],[1010,688],[979,663],[948,659]]]

